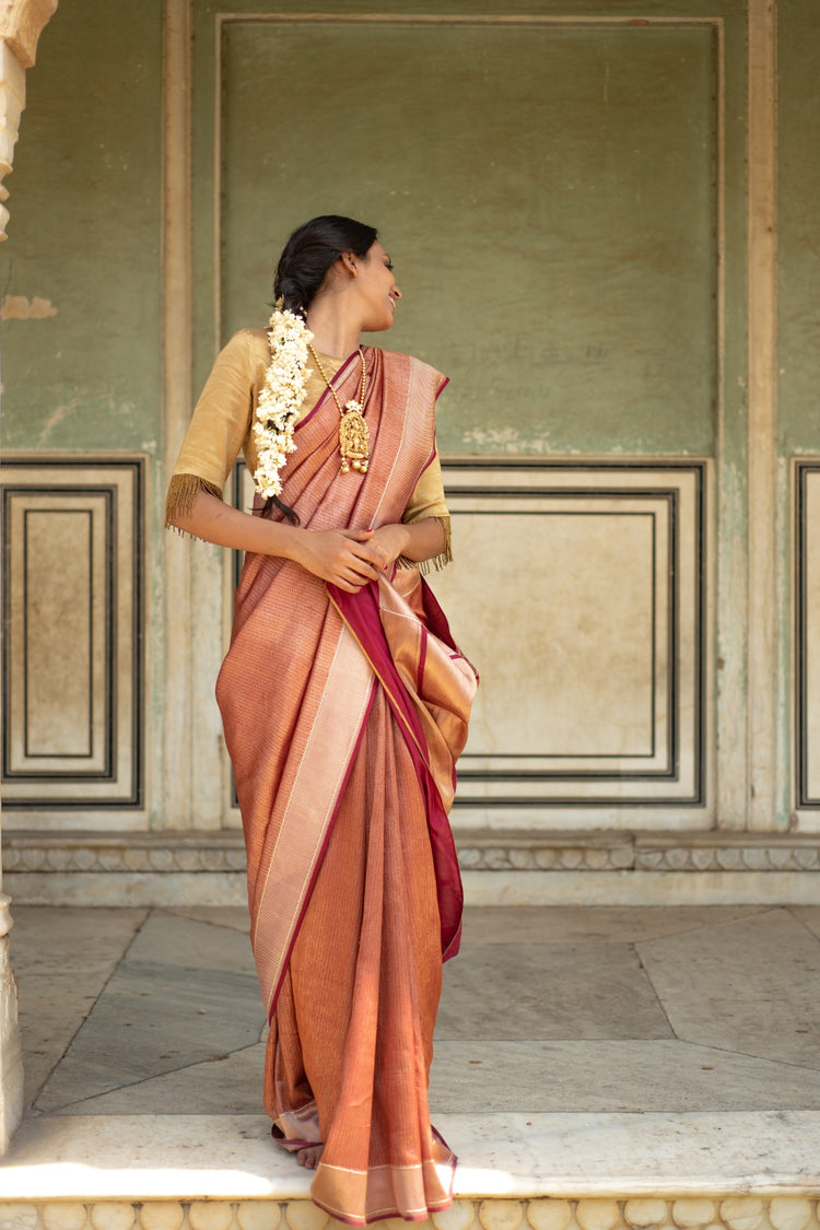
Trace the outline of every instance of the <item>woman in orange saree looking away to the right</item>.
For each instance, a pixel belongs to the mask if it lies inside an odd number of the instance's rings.
[[[269,331],[242,330],[197,403],[167,522],[245,551],[216,697],[270,1031],[273,1135],[311,1197],[364,1225],[452,1199],[429,1122],[441,962],[459,947],[447,811],[476,688],[419,565],[450,558],[435,449],[446,380],[361,346],[401,294],[376,231],[295,231]],[[240,449],[252,513],[221,502]]]

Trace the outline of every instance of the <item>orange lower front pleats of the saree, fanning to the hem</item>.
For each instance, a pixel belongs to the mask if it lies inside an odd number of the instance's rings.
[[[440,986],[424,806],[379,692],[266,1063],[266,1107],[283,1134],[325,1143],[311,1196],[333,1216],[416,1219],[449,1203],[455,1159],[433,1134],[427,1100]]]

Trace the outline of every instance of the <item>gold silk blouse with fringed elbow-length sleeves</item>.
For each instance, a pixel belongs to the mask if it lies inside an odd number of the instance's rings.
[[[344,362],[321,353],[320,358],[329,378],[336,375]],[[200,490],[221,499],[225,482],[240,450],[251,474],[256,470],[256,437],[251,428],[253,410],[264,385],[269,362],[268,332],[264,328],[241,330],[219,353],[194,407],[173,469],[166,506],[166,525],[176,512],[191,510]],[[313,370],[307,379],[300,419],[312,410],[325,387],[321,374]],[[444,499],[444,481],[438,453],[420,476],[402,522],[411,525],[428,517],[436,517],[443,522],[449,544],[450,514]]]

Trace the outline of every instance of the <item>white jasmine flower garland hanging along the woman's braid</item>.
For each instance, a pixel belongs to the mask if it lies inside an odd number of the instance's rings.
[[[294,426],[305,400],[307,378],[307,347],[313,339],[301,316],[283,310],[277,300],[270,317],[268,339],[270,364],[264,376],[253,423],[257,445],[257,466],[253,485],[268,499],[282,491],[279,471],[295,453]]]

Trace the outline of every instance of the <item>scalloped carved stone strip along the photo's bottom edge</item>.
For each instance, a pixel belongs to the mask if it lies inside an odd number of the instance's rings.
[[[770,1199],[727,1193],[687,1193],[669,1199],[647,1193],[626,1199],[454,1200],[419,1225],[434,1230],[818,1230],[820,1200],[808,1194]],[[397,1230],[397,1219],[377,1221]],[[293,1200],[4,1200],[2,1230],[342,1230],[307,1199]]]

